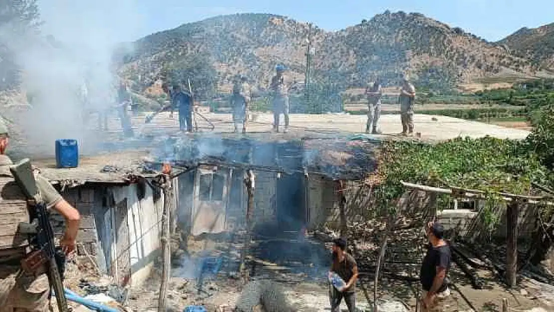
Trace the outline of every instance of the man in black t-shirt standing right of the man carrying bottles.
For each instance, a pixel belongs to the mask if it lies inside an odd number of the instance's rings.
[[[419,279],[422,284],[422,310],[430,311],[450,295],[447,274],[450,269],[450,246],[444,240],[444,228],[438,222],[429,222],[425,227],[429,249],[421,267]]]

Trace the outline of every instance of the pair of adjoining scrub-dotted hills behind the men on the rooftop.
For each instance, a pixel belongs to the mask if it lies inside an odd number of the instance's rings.
[[[396,83],[404,71],[420,84],[444,85],[486,76],[534,74],[526,59],[502,46],[422,14],[388,11],[338,32],[271,14],[209,18],[138,40],[121,71],[147,86],[168,70],[181,68],[184,76],[213,75],[193,83],[214,83],[223,90],[236,74],[266,86],[275,64],[282,62],[295,79],[304,80],[309,37],[315,51],[315,78],[344,87],[363,85],[373,76]],[[206,74],[212,65],[214,72]]]

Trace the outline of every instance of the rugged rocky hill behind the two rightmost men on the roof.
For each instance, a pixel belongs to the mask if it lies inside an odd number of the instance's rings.
[[[327,68],[360,75],[388,75],[408,70],[414,75],[428,67],[444,68],[459,81],[473,81],[509,69],[527,75],[529,62],[510,55],[460,28],[403,12],[378,14],[370,21],[334,33],[325,42]]]

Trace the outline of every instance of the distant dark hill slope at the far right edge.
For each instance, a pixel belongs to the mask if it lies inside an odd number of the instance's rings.
[[[500,40],[514,54],[529,58],[541,69],[554,71],[554,23],[538,28],[521,28]]]

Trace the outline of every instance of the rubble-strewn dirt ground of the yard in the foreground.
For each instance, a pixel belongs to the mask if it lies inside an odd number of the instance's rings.
[[[234,243],[233,243],[234,244]],[[235,249],[236,248],[236,249]],[[220,272],[215,276],[207,276],[202,283],[203,291],[198,291],[198,280],[183,278],[183,267],[175,262],[172,270],[173,277],[168,283],[168,311],[182,311],[188,305],[204,305],[208,311],[225,311],[224,307],[233,307],[240,291],[244,287],[243,280],[235,270],[238,267],[238,248],[233,245],[235,256],[227,264],[223,264]],[[322,246],[322,248],[325,248]],[[200,253],[217,254],[228,252],[228,243],[217,243],[208,239],[191,239],[188,244],[188,252],[191,258]],[[195,250],[196,249],[196,250]],[[255,272],[251,279],[270,279],[279,284],[284,293],[298,311],[318,312],[329,311],[329,284],[324,273],[326,267],[321,267],[319,273],[314,274],[313,267],[294,265],[277,265],[263,262],[258,259],[257,265],[250,272]],[[182,263],[187,267],[189,263]],[[418,268],[414,268],[417,274]],[[145,283],[143,289],[133,291],[129,300],[132,311],[156,311],[158,288],[160,285],[160,271],[156,270],[152,278]],[[186,274],[184,274],[186,275]],[[451,269],[450,279],[455,285],[452,296],[444,301],[445,312],[454,311],[501,311],[502,299],[507,299],[511,311],[532,311],[533,308],[554,310],[554,287],[540,284],[534,280],[522,278],[520,288],[506,290],[499,284],[490,272],[480,271],[479,275],[485,281],[483,290],[473,289],[465,275],[455,267]],[[396,279],[382,277],[379,280],[378,302],[387,300],[396,302],[406,310],[416,310],[416,298],[419,295],[417,283],[402,282]],[[361,277],[357,287],[357,308],[360,311],[371,311],[373,301],[373,278]],[[219,310],[217,310],[219,309]],[[342,311],[347,311],[342,303]],[[230,310],[229,310],[230,311]]]

